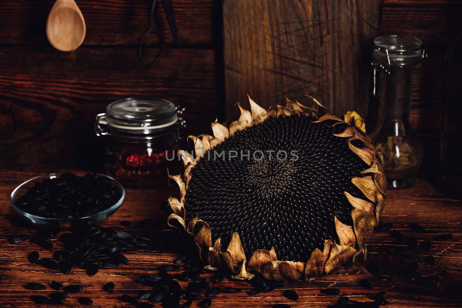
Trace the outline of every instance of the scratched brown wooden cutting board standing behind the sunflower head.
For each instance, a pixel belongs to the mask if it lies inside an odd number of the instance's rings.
[[[312,95],[333,113],[365,114],[380,8],[376,0],[225,0],[226,116],[236,101],[248,107],[247,93],[266,108]]]

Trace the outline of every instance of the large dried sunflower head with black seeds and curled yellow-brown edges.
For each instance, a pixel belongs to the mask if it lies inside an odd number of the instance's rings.
[[[310,279],[365,254],[386,179],[362,119],[346,122],[315,99],[319,110],[249,100],[229,128],[215,121],[214,136],[189,136],[195,154],[180,151],[185,172],[170,176],[181,198],[168,199],[169,225],[234,278]]]

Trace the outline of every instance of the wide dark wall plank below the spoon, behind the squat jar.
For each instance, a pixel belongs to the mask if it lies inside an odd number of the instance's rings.
[[[103,155],[95,116],[125,97],[168,99],[186,107],[189,132],[207,131],[216,114],[214,74],[212,50],[168,49],[146,67],[130,47],[3,47],[0,166],[92,164]]]

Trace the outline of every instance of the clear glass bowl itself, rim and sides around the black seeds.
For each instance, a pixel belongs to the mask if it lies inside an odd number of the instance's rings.
[[[73,172],[73,173],[81,177],[88,172]],[[43,174],[41,176],[31,178],[30,180],[27,180],[24,183],[20,184],[18,187],[16,187],[10,196],[10,202],[15,212],[18,213],[18,215],[21,216],[21,218],[31,222],[34,225],[38,225],[41,227],[48,227],[48,228],[64,228],[65,229],[65,228],[72,228],[72,227],[81,226],[81,225],[91,225],[97,221],[103,220],[109,217],[110,215],[114,214],[117,211],[117,209],[122,205],[123,199],[125,197],[125,190],[123,189],[122,184],[120,184],[114,178],[111,178],[104,174],[97,173],[96,174],[97,177],[106,178],[107,180],[109,180],[109,182],[111,182],[111,184],[119,187],[122,193],[122,197],[114,205],[106,208],[105,210],[101,212],[86,215],[83,217],[76,217],[76,218],[48,218],[48,217],[40,217],[40,216],[32,215],[30,213],[24,212],[23,210],[20,210],[16,206],[15,202],[18,200],[18,198],[22,195],[25,195],[27,190],[33,187],[37,182],[42,182],[45,178],[59,178],[61,177],[61,174],[62,172]]]

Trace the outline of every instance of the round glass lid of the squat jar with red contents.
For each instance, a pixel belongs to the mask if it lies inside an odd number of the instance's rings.
[[[110,103],[106,108],[110,126],[160,128],[178,120],[175,105],[159,98],[126,98]]]

